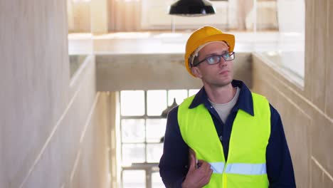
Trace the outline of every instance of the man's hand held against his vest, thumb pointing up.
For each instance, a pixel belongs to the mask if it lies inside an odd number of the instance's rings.
[[[211,180],[211,164],[203,160],[199,160],[198,168],[196,168],[196,157],[190,153],[189,172],[186,174],[184,182],[181,184],[183,188],[201,188],[208,184]]]

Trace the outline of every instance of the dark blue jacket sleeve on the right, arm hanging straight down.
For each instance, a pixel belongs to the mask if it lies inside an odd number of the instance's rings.
[[[281,117],[272,105],[270,105],[270,114],[270,139],[266,149],[267,174],[270,188],[296,187],[294,169]]]

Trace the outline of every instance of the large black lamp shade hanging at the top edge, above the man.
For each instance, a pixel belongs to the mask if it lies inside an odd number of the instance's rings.
[[[179,0],[171,4],[169,14],[177,16],[206,16],[215,14],[214,8],[206,0]]]

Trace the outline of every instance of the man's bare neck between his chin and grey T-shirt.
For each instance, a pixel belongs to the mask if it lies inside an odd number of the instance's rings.
[[[228,84],[223,87],[211,87],[210,85],[203,85],[206,90],[208,99],[216,104],[225,104],[230,102],[236,94],[236,88]]]

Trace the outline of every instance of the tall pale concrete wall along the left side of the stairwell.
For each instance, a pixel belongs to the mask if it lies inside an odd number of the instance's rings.
[[[70,79],[66,1],[0,1],[0,187],[108,187],[95,58]]]

